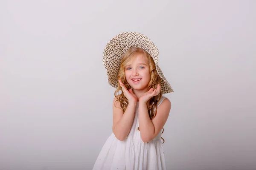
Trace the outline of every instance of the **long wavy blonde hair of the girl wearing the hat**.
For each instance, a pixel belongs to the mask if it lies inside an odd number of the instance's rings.
[[[126,51],[126,53],[124,54],[124,56],[121,60],[121,66],[120,66],[120,70],[119,70],[117,79],[120,79],[127,89],[131,88],[131,86],[128,84],[127,80],[125,79],[125,67],[131,61],[131,59],[136,57],[136,54],[145,55],[145,57],[147,57],[148,62],[149,62],[149,70],[150,70],[151,79],[150,79],[150,82],[148,83],[147,91],[150,88],[156,89],[157,85],[160,84],[160,82],[161,82],[161,78],[157,73],[154,60],[152,59],[150,54],[148,54],[147,51],[145,51],[139,47],[131,47],[128,49],[128,51]],[[125,112],[129,102],[128,102],[128,99],[125,97],[125,95],[122,91],[122,87],[120,86],[119,82],[118,82],[117,89],[116,89],[114,95],[115,95],[116,99],[120,102],[122,111]],[[160,91],[160,93],[157,96],[151,97],[151,99],[149,99],[147,102],[148,115],[151,120],[154,119],[154,117],[157,115],[157,105],[158,105],[159,99],[162,97],[162,95],[163,94]],[[140,130],[140,127],[138,128],[138,130]],[[163,133],[163,131],[162,131],[162,133]],[[161,137],[161,139],[163,139],[163,138]],[[164,143],[164,139],[163,139],[163,143]]]

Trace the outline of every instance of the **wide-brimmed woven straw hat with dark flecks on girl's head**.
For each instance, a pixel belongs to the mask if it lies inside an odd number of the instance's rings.
[[[143,34],[135,32],[124,32],[118,34],[106,45],[103,52],[103,62],[108,74],[108,83],[117,88],[118,72],[121,66],[121,60],[125,52],[131,47],[139,47],[147,51],[154,60],[157,73],[161,77],[161,91],[163,94],[173,92],[171,85],[163,76],[163,72],[158,66],[158,49],[154,43]]]

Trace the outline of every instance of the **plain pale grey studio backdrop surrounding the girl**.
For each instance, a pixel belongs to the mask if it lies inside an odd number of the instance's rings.
[[[256,169],[255,0],[1,0],[0,170],[90,170],[112,133],[102,62],[148,36],[174,93],[169,170]]]

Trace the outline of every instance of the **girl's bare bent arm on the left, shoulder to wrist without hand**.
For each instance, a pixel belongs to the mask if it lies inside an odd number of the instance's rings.
[[[113,99],[113,133],[116,138],[123,141],[129,134],[134,121],[136,102],[128,104],[125,113],[123,113],[120,102]]]

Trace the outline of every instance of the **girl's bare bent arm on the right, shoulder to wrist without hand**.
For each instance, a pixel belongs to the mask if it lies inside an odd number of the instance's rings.
[[[164,99],[159,108],[157,115],[150,120],[146,102],[140,102],[139,105],[139,124],[140,136],[143,142],[149,142],[154,139],[166,123],[169,112],[171,110],[171,102],[169,99]]]

